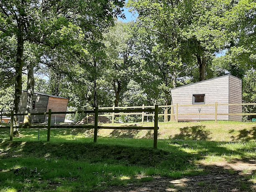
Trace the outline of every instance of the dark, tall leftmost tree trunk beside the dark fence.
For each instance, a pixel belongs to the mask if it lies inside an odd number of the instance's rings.
[[[20,112],[20,97],[22,94],[22,68],[23,68],[23,51],[24,51],[24,40],[23,40],[23,27],[18,29],[17,33],[17,53],[16,53],[16,65],[15,65],[15,93],[13,100],[13,112]],[[19,116],[14,116],[14,125],[19,125]],[[13,132],[13,135],[18,135],[18,128]]]

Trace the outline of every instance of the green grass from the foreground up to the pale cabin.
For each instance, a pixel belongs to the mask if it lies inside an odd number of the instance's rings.
[[[152,133],[147,131],[100,130],[98,142],[92,143],[93,130],[53,129],[47,143],[46,130],[40,130],[37,141],[37,129],[20,129],[21,136],[10,142],[8,130],[1,129],[0,192],[97,191],[152,182],[155,176],[207,174],[202,161],[255,159],[255,126],[159,123],[158,149],[152,148]],[[256,182],[255,174],[248,179]]]

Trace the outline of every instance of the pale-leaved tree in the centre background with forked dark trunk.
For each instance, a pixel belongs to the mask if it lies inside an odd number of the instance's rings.
[[[105,52],[107,65],[104,66],[104,79],[112,84],[115,93],[115,106],[118,107],[120,97],[127,90],[127,84],[134,72],[134,36],[133,23],[116,22],[115,26],[105,33]]]

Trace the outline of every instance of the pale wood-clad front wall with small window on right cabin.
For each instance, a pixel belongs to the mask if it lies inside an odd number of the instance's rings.
[[[174,113],[176,111],[176,103],[179,105],[192,105],[192,96],[194,94],[205,94],[205,104],[228,103],[229,102],[229,75],[209,79],[188,86],[171,90],[172,102],[174,105]],[[193,106],[178,107],[179,121],[199,120],[200,113],[215,113],[215,106]],[[228,106],[218,106],[218,113],[228,113]],[[197,113],[198,115],[182,115],[185,113]],[[176,118],[176,115],[175,115]],[[214,120],[215,115],[200,115],[201,120]],[[228,115],[218,115],[218,120],[229,120]]]

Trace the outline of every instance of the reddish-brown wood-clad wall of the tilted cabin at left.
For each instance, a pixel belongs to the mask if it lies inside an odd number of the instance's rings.
[[[49,97],[49,102],[47,106],[47,110],[51,109],[52,112],[58,111],[67,111],[68,99],[57,98],[57,97]],[[65,114],[53,114],[51,115],[52,122],[54,123],[56,116],[56,122],[64,122]],[[45,117],[45,121],[48,120],[48,115]]]

